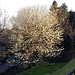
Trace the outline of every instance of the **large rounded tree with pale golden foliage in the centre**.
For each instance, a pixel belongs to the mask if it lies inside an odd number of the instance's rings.
[[[61,53],[64,32],[62,20],[66,17],[61,10],[61,7],[52,5],[49,14],[46,9],[28,7],[21,9],[17,17],[12,18],[13,30],[16,32],[13,52],[22,61],[35,63],[43,56],[52,57]]]

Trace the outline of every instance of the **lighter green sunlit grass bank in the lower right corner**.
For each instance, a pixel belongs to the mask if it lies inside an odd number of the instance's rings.
[[[72,59],[66,66],[63,68],[55,71],[52,75],[67,75],[70,73],[73,69],[75,69],[75,58]]]

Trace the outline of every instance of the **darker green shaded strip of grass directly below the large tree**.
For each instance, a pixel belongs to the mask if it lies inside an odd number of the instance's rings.
[[[19,75],[50,75],[54,71],[62,68],[66,63],[60,64],[47,64],[35,67],[34,69],[29,69],[25,72],[22,72]]]

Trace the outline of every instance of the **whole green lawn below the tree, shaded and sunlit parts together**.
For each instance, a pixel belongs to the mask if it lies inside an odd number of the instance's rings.
[[[67,75],[75,68],[75,58],[68,63],[55,63],[37,66],[18,75]]]

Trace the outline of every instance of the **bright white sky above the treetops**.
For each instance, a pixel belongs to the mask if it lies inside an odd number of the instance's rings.
[[[16,15],[17,11],[26,6],[45,5],[48,8],[54,0],[0,0],[0,8],[2,11],[6,9],[9,16]],[[56,0],[58,5],[66,3],[69,10],[75,10],[74,0]]]

